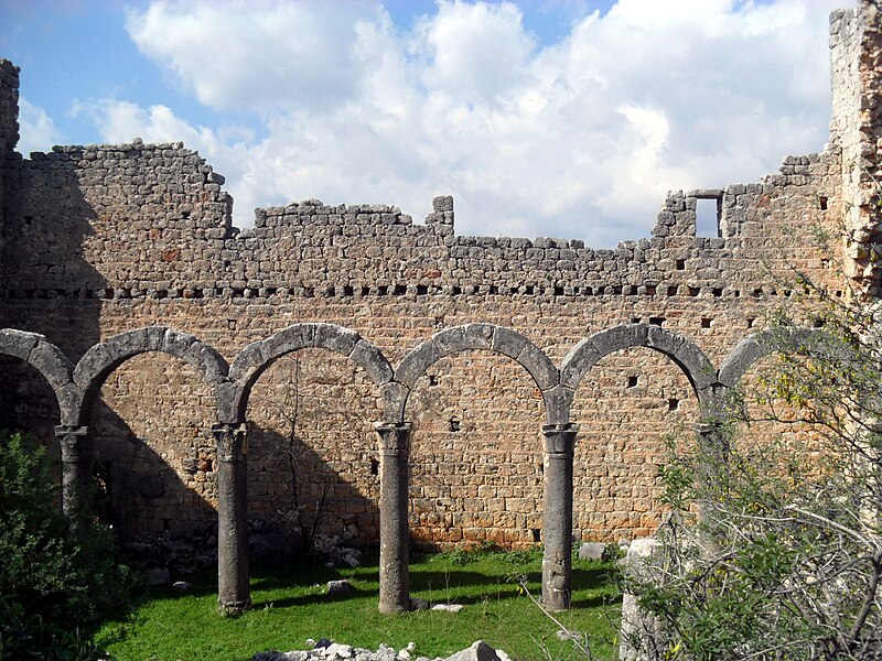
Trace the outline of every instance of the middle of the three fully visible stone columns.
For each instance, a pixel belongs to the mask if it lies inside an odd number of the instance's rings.
[[[405,423],[379,423],[379,611],[410,610],[407,486],[410,432]]]

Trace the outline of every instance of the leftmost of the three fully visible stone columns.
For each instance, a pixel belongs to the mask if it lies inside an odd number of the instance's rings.
[[[248,462],[245,424],[216,424],[217,605],[240,615],[251,604],[248,573]]]

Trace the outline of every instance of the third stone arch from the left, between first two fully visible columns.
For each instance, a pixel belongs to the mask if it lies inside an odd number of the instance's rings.
[[[218,391],[222,422],[245,420],[251,388],[276,360],[305,348],[329,349],[352,358],[385,392],[392,383],[392,368],[383,353],[355,330],[336,324],[293,324],[245,347],[229,368],[229,380]],[[384,398],[385,399],[385,398]]]

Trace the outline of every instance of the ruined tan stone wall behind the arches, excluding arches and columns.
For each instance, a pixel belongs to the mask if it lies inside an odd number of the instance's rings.
[[[835,71],[858,71],[849,43],[835,40]],[[56,148],[2,167],[4,323],[45,334],[74,361],[119,332],[163,324],[232,362],[291,324],[330,322],[397,365],[439,330],[484,322],[521,333],[557,366],[592,333],[642,323],[688,338],[719,367],[793,295],[794,270],[845,295],[835,256],[809,240],[811,227],[847,212],[851,129],[839,116],[854,111],[852,91],[835,102],[824,153],[787,158],[755,184],[673,193],[652,237],[614,250],[458,236],[450,197],[434,201],[424,225],[394,206],[310,199],[258,210],[239,232],[223,177],[180,144]],[[717,237],[696,237],[700,198],[718,201]],[[15,421],[52,415],[40,397],[15,397]],[[247,414],[252,519],[291,524],[323,503],[323,530],[376,540],[373,424],[383,412],[363,369],[320,349],[286,357],[261,376]],[[415,424],[417,540],[540,539],[542,398],[521,366],[483,350],[443,358],[417,381],[405,419]],[[571,419],[577,532],[650,533],[663,514],[665,435],[682,430],[688,441],[699,419],[684,372],[647,348],[606,356]],[[214,422],[207,386],[182,360],[143,355],[108,377],[89,429],[127,533],[211,529]]]

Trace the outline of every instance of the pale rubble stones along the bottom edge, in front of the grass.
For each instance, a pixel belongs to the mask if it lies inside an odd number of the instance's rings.
[[[260,652],[254,655],[252,661],[510,661],[508,654],[492,648],[483,640],[477,640],[471,647],[450,657],[435,657],[434,659],[429,659],[428,657],[413,659],[412,652],[417,646],[412,642],[408,643],[407,648],[398,651],[383,643],[376,651],[365,650],[348,644],[331,642],[326,638],[313,644],[313,649],[308,651],[277,652],[270,650]]]

